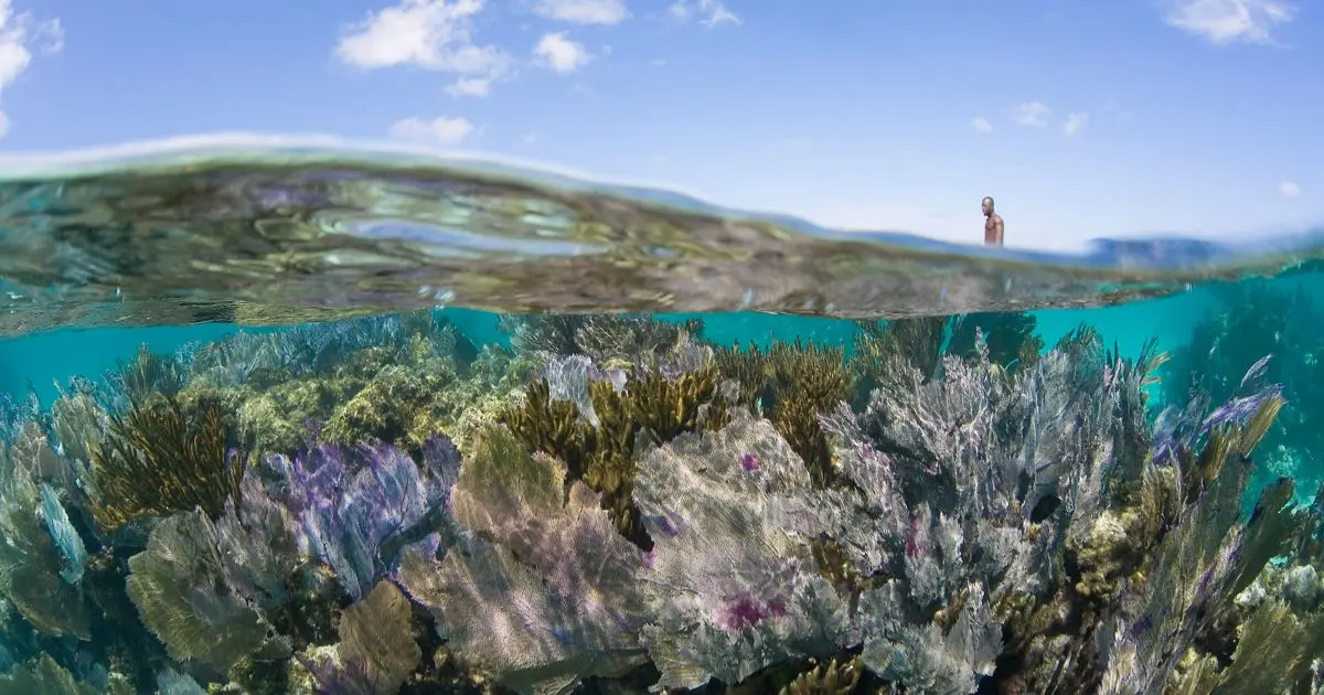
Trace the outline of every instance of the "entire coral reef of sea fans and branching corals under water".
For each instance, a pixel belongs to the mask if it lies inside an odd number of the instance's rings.
[[[1250,315],[1168,364],[1027,315],[503,320],[7,404],[0,694],[1324,692],[1324,503],[1256,455],[1324,455],[1321,381],[1207,349]]]

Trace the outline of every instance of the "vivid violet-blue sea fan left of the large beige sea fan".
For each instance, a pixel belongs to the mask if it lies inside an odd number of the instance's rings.
[[[273,496],[298,519],[301,551],[330,565],[355,600],[391,569],[401,544],[445,523],[458,463],[444,437],[424,446],[422,469],[381,442],[267,459],[279,475]]]

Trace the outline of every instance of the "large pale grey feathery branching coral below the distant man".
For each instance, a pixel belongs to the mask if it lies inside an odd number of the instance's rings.
[[[886,654],[898,643],[908,645],[903,651],[929,654],[927,666],[914,657],[898,662],[903,667],[873,661],[870,654],[882,657],[866,647],[866,663],[896,669],[902,684],[940,692],[963,692],[990,672],[1000,651],[992,638],[1001,639],[996,626],[1004,621],[1010,621],[1016,649],[1027,655],[1022,669],[1030,672],[1008,678],[1046,687],[1037,680],[1041,666],[1054,672],[1054,659],[1067,658],[1054,634],[1072,629],[1054,616],[1084,609],[1078,594],[1054,589],[1076,573],[1094,577],[1087,581],[1094,596],[1115,597],[1116,581],[1145,560],[1145,544],[1156,540],[1173,506],[1162,492],[1172,486],[1145,469],[1141,388],[1156,353],[1120,360],[1092,335],[1079,334],[1012,375],[982,349],[977,342],[972,357],[945,356],[931,377],[894,353],[887,357],[890,376],[862,416],[841,409],[825,420],[846,478],[875,500],[866,507],[883,522],[875,528],[900,549],[884,555],[878,551],[887,548],[843,536],[861,568],[896,577],[861,602],[876,613],[886,596],[890,616],[902,616],[900,622],[878,614],[866,621],[883,621],[873,631],[891,645]],[[1151,502],[1141,504],[1144,499]],[[1121,539],[1136,547],[1125,548]],[[984,637],[947,646],[951,624],[929,626],[925,618],[935,608],[949,617],[977,609],[968,622]],[[1062,635],[1079,646],[1074,639],[1082,638]]]

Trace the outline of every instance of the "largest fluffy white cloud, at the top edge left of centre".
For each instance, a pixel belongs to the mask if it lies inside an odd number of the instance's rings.
[[[510,68],[511,57],[474,44],[473,19],[483,5],[485,0],[400,0],[350,26],[335,54],[369,70],[413,65],[494,78]]]

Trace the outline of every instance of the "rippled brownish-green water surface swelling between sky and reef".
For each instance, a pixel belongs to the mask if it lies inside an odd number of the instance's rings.
[[[0,330],[499,311],[927,315],[1117,303],[1312,262],[1313,238],[990,253],[409,152],[126,148],[0,173]]]

